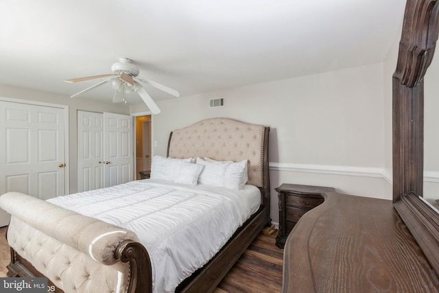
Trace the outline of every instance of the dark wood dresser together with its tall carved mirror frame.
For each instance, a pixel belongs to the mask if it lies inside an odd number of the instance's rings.
[[[439,292],[439,214],[422,199],[438,19],[439,0],[407,0],[392,75],[392,200],[323,194],[289,233],[283,292]]]

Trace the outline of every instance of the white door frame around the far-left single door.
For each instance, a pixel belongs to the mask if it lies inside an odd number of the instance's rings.
[[[66,165],[65,171],[64,171],[64,194],[70,194],[70,181],[69,181],[69,174],[70,174],[70,156],[69,156],[69,106],[67,105],[60,105],[60,104],[52,104],[52,103],[45,103],[45,102],[38,102],[33,101],[31,99],[16,99],[12,97],[1,97],[0,101],[3,102],[12,102],[17,104],[29,104],[34,106],[45,106],[45,107],[51,107],[51,108],[60,108],[64,110],[64,162]]]

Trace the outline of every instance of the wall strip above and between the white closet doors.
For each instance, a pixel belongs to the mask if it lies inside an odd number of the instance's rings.
[[[77,111],[86,110],[99,113],[109,112],[124,115],[130,114],[130,108],[125,105],[96,102],[82,98],[73,99],[67,95],[21,89],[1,84],[0,96],[69,106],[69,165],[67,165],[67,167],[69,167],[69,187],[70,193],[72,194],[78,190]]]

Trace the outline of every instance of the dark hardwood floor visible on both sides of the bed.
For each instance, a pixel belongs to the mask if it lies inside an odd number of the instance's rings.
[[[0,228],[0,277],[6,277],[6,266],[10,262],[5,233],[6,228]],[[275,238],[276,233],[259,234],[213,292],[281,292],[283,249],[274,245]]]

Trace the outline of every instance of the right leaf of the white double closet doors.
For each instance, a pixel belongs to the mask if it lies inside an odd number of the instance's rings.
[[[106,187],[133,180],[132,121],[129,115],[104,113]]]

